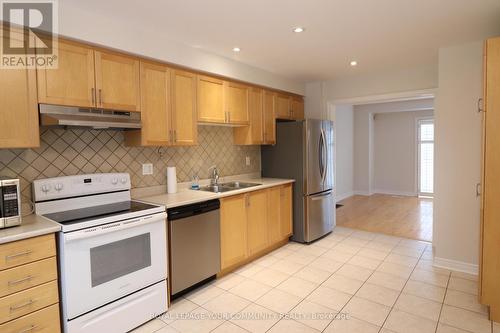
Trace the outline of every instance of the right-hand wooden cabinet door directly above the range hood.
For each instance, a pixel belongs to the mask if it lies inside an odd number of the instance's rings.
[[[95,51],[97,107],[140,111],[139,60]]]

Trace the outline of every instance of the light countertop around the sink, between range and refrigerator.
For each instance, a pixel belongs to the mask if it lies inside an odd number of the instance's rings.
[[[160,194],[145,197],[135,197],[134,199],[164,205],[167,208],[189,205],[197,202],[229,197],[241,193],[258,191],[269,187],[284,185],[295,182],[293,179],[277,179],[277,178],[241,178],[241,182],[258,183],[261,185],[248,187],[244,189],[228,191],[223,193],[212,193],[206,191],[195,191],[188,188],[179,188],[174,194]]]

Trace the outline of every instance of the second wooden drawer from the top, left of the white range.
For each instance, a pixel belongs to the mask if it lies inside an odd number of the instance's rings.
[[[55,257],[6,269],[0,271],[0,297],[53,280],[57,280]]]

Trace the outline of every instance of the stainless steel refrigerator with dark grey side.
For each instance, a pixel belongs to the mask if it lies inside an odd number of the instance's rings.
[[[333,122],[306,119],[276,124],[276,145],[262,146],[262,175],[295,179],[293,236],[312,242],[333,230]]]

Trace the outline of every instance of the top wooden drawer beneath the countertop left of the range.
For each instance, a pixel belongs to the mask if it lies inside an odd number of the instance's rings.
[[[54,257],[54,234],[28,238],[0,245],[0,270]]]

